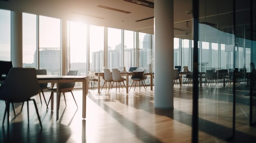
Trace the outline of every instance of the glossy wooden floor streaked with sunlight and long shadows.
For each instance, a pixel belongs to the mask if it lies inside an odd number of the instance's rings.
[[[154,91],[154,90],[153,90]],[[29,103],[29,124],[27,106],[20,112],[21,104],[16,104],[18,116],[11,111],[9,138],[7,122],[2,125],[5,104],[0,101],[0,143],[189,143],[191,142],[192,86],[174,86],[174,109],[154,108],[154,94],[137,88],[126,94],[125,88],[115,92],[115,88],[89,90],[87,97],[87,118],[81,118],[82,91],[75,90],[74,96],[79,108],[67,93],[65,106],[61,97],[60,118],[55,112],[46,110],[45,103],[37,101],[43,124],[37,120],[33,102]],[[232,133],[232,90],[218,86],[202,87],[199,90],[199,141],[202,143],[256,142],[256,128],[249,127],[249,97],[241,96],[237,103],[236,137],[226,140]],[[244,93],[244,92],[243,92]],[[50,92],[45,92],[49,99]],[[171,95],[171,93],[170,93]],[[239,99],[238,99],[239,101]],[[55,107],[54,107],[55,108]],[[11,108],[12,109],[12,108]]]

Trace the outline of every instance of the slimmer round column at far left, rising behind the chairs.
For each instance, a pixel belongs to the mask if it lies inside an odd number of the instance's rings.
[[[22,13],[11,11],[11,61],[22,67]]]

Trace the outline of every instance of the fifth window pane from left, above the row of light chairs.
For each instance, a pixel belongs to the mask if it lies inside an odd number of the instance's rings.
[[[104,66],[104,27],[90,25],[90,71],[102,72]]]

